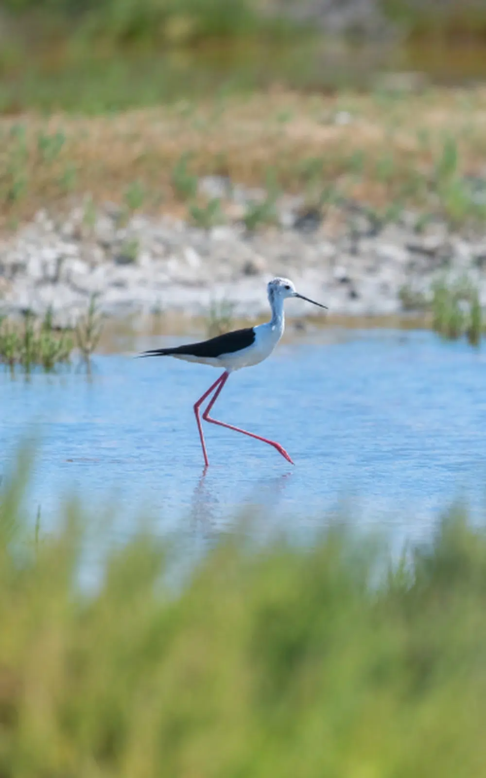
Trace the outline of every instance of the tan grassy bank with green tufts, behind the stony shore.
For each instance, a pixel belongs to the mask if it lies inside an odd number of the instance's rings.
[[[454,227],[486,219],[486,92],[434,89],[383,97],[285,91],[191,102],[114,117],[0,119],[0,226],[39,208],[58,215],[83,199],[93,230],[100,202],[121,222],[140,210],[191,216],[203,227],[243,219],[248,230],[275,218],[282,192],[303,194],[323,216],[350,201],[377,229],[407,208],[418,230],[440,216]],[[339,117],[348,119],[340,124]],[[275,120],[285,114],[285,122]],[[208,202],[203,175],[264,186],[246,212],[229,197]],[[230,189],[228,194],[230,193]],[[421,224],[420,224],[421,221]]]

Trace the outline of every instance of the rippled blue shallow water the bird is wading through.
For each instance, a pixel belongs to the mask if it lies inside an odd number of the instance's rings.
[[[144,343],[146,345],[146,343]],[[334,342],[281,345],[229,378],[216,419],[278,440],[295,461],[205,425],[203,461],[192,405],[210,367],[96,356],[93,375],[0,373],[0,472],[19,441],[42,442],[28,504],[54,521],[73,490],[117,502],[115,529],[141,512],[160,532],[212,537],[245,506],[265,531],[320,527],[344,510],[400,541],[426,536],[458,496],[486,493],[486,356],[428,332],[360,331]]]

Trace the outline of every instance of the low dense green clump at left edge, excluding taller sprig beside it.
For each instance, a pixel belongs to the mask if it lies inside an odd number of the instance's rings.
[[[73,349],[68,331],[57,331],[52,312],[47,311],[38,321],[32,314],[23,317],[23,324],[0,318],[0,362],[11,370],[20,366],[27,373],[35,366],[51,372],[60,364],[68,363]]]

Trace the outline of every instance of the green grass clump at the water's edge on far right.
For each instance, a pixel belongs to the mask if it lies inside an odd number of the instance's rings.
[[[484,334],[484,318],[479,293],[467,279],[446,282],[433,287],[432,327],[445,338],[456,340],[467,336],[478,345]]]

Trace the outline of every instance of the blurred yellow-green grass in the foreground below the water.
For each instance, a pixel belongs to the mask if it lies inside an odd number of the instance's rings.
[[[83,594],[86,517],[34,539],[27,470],[0,503],[2,778],[486,774],[486,531],[460,511],[393,565],[342,526],[235,532],[180,589],[141,528]]]

